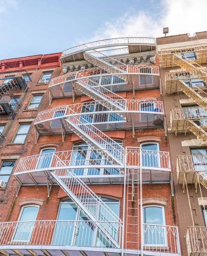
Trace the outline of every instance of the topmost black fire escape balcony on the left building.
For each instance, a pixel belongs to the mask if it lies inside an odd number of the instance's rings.
[[[3,95],[11,89],[25,89],[28,81],[31,79],[26,70],[0,73],[0,94]]]

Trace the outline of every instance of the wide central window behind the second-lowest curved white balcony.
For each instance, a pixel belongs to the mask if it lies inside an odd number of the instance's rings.
[[[115,140],[117,144],[113,145],[117,147],[122,146],[122,142]],[[72,166],[83,166],[83,165],[110,165],[104,156],[100,154],[99,151],[92,150],[92,148],[85,142],[75,143],[73,145],[73,152],[71,156],[71,165]],[[121,159],[120,151],[112,151],[118,159]],[[120,174],[119,169],[115,168],[77,168],[73,172],[76,175],[118,175]]]

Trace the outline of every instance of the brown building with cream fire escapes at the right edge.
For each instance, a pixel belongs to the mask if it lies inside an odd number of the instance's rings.
[[[207,251],[207,32],[157,38],[183,255]]]

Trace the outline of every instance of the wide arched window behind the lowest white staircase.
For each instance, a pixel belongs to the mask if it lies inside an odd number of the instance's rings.
[[[119,200],[100,198],[117,216],[119,215]],[[95,207],[99,213],[98,220],[107,221],[106,216],[102,215],[103,210],[99,207],[99,205]],[[88,217],[71,199],[61,201],[58,220],[62,221],[56,225],[52,245],[110,247],[109,241],[103,237],[103,234],[92,222],[87,222],[89,221]],[[115,239],[118,238],[118,227],[111,227],[109,232]]]

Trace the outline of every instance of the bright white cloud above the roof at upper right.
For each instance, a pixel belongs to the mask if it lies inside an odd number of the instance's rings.
[[[108,20],[90,38],[79,43],[116,37],[161,37],[163,27],[168,35],[206,31],[207,0],[150,0],[153,13],[129,9],[124,15]]]

